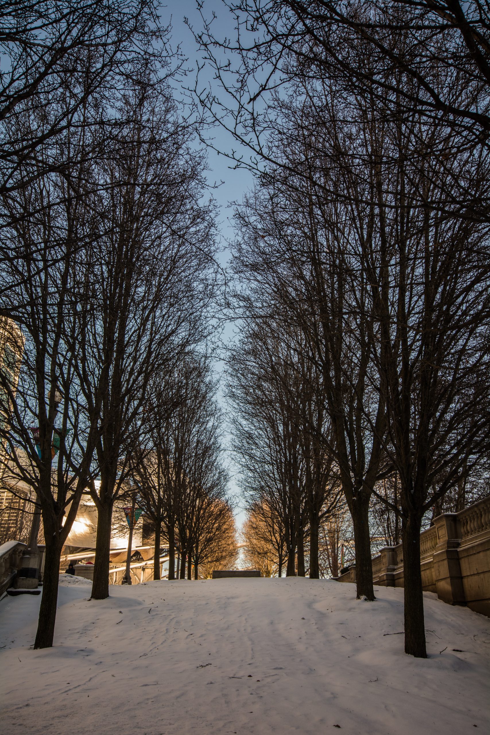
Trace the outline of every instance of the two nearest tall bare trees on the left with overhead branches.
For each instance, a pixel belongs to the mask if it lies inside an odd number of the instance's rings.
[[[20,363],[0,361],[0,462],[42,514],[43,648],[82,493],[98,511],[92,597],[102,599],[112,509],[134,473],[135,437],[148,446],[155,426],[156,376],[184,366],[186,390],[202,395],[196,350],[215,295],[215,212],[194,129],[173,99],[179,54],[167,54],[152,1],[20,2],[1,20],[10,67],[0,89],[0,315],[14,325]],[[209,469],[217,434],[206,434],[215,409],[204,394],[185,427],[203,434],[203,451],[189,445],[184,463],[193,512],[176,514],[195,556],[202,499],[228,508],[223,473]],[[188,482],[179,471],[174,485]]]

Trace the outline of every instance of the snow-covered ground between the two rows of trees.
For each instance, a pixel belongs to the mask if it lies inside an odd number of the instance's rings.
[[[0,603],[5,733],[488,731],[490,620],[430,593],[422,660],[403,653],[401,589],[370,603],[325,580],[160,581],[96,601],[77,579],[51,649],[30,648],[40,598]]]

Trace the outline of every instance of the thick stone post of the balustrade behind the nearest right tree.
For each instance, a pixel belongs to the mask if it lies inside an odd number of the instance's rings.
[[[455,513],[444,513],[434,518],[437,532],[437,545],[433,553],[434,577],[437,596],[450,605],[464,605],[463,580],[459,563],[458,524]]]

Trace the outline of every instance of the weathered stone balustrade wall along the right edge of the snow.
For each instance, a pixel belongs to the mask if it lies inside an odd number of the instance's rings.
[[[460,513],[444,513],[420,534],[425,592],[451,605],[467,605],[490,617],[490,496]],[[356,568],[340,576],[356,581]],[[386,546],[372,559],[372,581],[403,587],[402,545]]]

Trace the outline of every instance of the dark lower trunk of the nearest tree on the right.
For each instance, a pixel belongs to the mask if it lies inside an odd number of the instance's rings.
[[[403,520],[403,598],[405,602],[405,653],[426,659],[424,600],[420,570],[420,523],[413,515]]]

